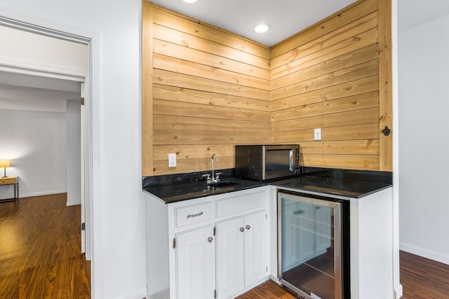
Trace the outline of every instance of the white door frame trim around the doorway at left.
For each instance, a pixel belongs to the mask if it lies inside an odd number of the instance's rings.
[[[79,75],[58,74],[55,72],[29,69],[21,66],[0,64],[2,71],[11,71],[20,74],[32,74],[36,76],[46,76],[49,78],[62,78],[65,80],[75,80],[83,82],[83,95],[86,107],[86,138],[83,154],[85,155],[84,167],[87,176],[83,176],[84,182],[81,196],[84,196],[86,207],[86,258],[91,260],[91,298],[104,297],[104,265],[102,244],[102,201],[100,186],[100,159],[95,159],[94,154],[100,153],[100,36],[96,32],[66,25],[60,22],[28,15],[20,11],[3,8],[0,12],[0,25],[14,29],[25,30],[35,34],[51,36],[57,39],[85,43],[88,45],[88,76],[82,78]],[[95,71],[93,71],[95,69]],[[91,74],[95,74],[92,76]],[[97,88],[95,88],[97,87]],[[86,100],[87,99],[87,100]],[[96,117],[95,117],[96,116]],[[83,123],[81,123],[83,126]],[[86,142],[88,141],[88,142]],[[87,165],[87,167],[86,167]],[[82,171],[82,170],[81,170]],[[94,181],[99,182],[95,184]],[[83,185],[83,184],[82,184]],[[86,196],[87,195],[87,196]],[[95,200],[94,200],[95,198]],[[94,225],[95,223],[95,225]],[[95,246],[98,244],[98,246]]]

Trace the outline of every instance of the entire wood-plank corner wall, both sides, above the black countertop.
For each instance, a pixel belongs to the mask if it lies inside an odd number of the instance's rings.
[[[142,1],[142,176],[209,170],[213,153],[233,168],[236,144],[267,143],[300,144],[304,166],[391,171],[389,6],[356,1],[269,48]]]

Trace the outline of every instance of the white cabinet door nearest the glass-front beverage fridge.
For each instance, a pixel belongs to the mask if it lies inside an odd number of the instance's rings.
[[[267,275],[267,218],[265,211],[248,214],[245,224],[245,286]]]

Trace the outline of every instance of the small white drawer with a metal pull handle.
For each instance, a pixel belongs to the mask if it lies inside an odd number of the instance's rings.
[[[199,223],[213,218],[213,202],[175,208],[176,227]]]

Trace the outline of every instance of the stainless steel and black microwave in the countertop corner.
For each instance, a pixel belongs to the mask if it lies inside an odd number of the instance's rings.
[[[264,181],[300,174],[300,146],[236,146],[235,176]]]

